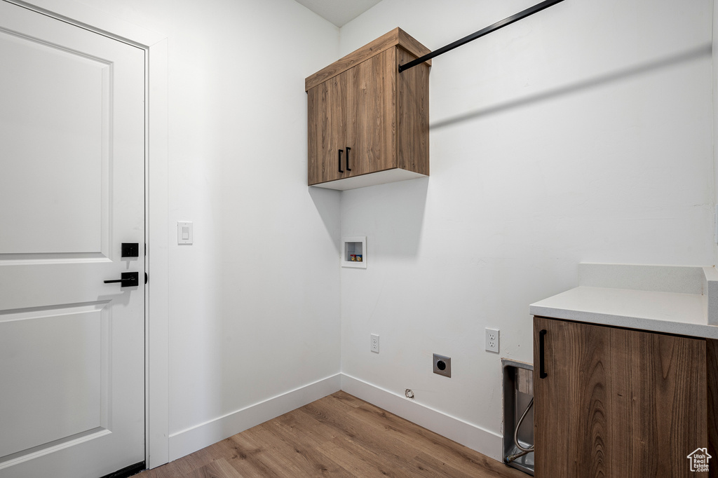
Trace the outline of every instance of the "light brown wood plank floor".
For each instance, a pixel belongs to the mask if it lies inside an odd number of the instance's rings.
[[[345,392],[139,478],[505,477],[527,474]]]

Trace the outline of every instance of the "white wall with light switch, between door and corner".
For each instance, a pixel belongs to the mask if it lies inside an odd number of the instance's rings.
[[[338,29],[293,0],[82,3],[168,37],[170,436],[336,375],[339,196],[307,188],[304,78]]]

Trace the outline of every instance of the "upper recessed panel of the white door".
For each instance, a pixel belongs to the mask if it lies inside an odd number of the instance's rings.
[[[0,224],[14,225],[0,233],[0,254],[99,253],[110,65],[1,31],[0,65],[11,65],[0,86],[13,92],[0,96],[0,203],[24,206],[0,209]]]

